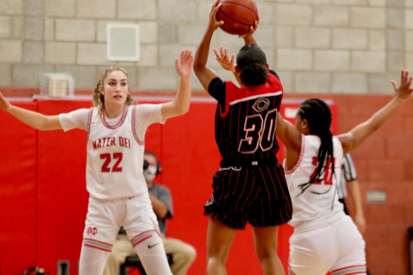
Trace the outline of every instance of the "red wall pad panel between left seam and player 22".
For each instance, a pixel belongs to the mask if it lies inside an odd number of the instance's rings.
[[[44,114],[90,106],[90,101],[38,101],[38,110]],[[58,260],[69,260],[70,274],[77,274],[89,197],[86,138],[83,130],[38,134],[38,264],[51,275],[56,273]]]

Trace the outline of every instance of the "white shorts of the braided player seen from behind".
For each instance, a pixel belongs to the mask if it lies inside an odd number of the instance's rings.
[[[290,238],[290,275],[366,274],[365,242],[349,216]]]

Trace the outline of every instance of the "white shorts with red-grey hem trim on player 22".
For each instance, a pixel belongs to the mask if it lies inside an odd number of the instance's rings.
[[[148,193],[116,200],[89,197],[83,232],[85,246],[112,251],[120,226],[123,226],[134,247],[151,238],[154,232],[160,236]]]

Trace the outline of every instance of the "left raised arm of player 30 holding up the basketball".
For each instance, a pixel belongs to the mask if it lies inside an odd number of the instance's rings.
[[[217,2],[218,0],[215,0],[212,5],[211,12],[209,13],[209,24],[202,37],[194,60],[195,74],[206,91],[208,90],[209,83],[214,78],[218,77],[211,68],[207,68],[209,45],[211,44],[212,34],[219,26],[224,24],[224,21],[218,22],[215,18],[218,9],[221,7],[221,4],[216,5]]]

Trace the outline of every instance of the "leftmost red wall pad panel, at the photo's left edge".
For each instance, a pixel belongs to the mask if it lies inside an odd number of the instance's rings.
[[[2,110],[0,131],[0,274],[23,274],[37,262],[36,131]]]

